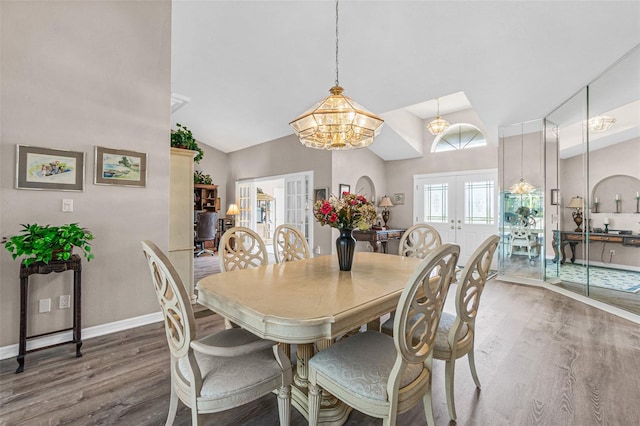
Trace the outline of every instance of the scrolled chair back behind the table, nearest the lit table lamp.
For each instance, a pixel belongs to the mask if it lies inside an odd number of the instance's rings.
[[[222,235],[218,256],[222,272],[255,268],[269,263],[262,238],[255,231],[242,226],[230,228]]]

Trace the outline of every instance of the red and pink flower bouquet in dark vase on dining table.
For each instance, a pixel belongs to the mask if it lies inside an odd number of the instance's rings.
[[[362,195],[344,192],[342,198],[332,195],[328,200],[318,200],[313,206],[313,215],[321,225],[329,225],[340,231],[336,240],[336,251],[341,271],[350,271],[356,240],[351,232],[358,228],[371,228],[376,219],[376,208]]]

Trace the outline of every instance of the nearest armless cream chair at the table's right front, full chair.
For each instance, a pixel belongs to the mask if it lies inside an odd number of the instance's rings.
[[[396,308],[393,337],[365,331],[309,360],[309,424],[318,423],[321,389],[367,415],[394,425],[420,400],[429,425],[433,343],[460,247],[433,250],[407,281]],[[440,271],[438,274],[437,271]],[[420,336],[418,341],[413,336]]]

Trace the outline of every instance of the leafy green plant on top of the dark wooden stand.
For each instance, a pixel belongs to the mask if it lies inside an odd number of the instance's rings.
[[[89,241],[93,234],[77,223],[61,226],[22,225],[20,234],[9,237],[4,245],[15,260],[24,256],[25,266],[33,262],[49,263],[51,260],[69,260],[73,247],[78,247],[87,261],[94,258]],[[55,256],[55,258],[54,258]]]

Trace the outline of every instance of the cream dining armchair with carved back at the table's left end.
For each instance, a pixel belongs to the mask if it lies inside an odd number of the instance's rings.
[[[178,399],[191,408],[192,424],[215,413],[277,392],[280,424],[291,411],[291,363],[276,342],[250,332],[226,329],[196,340],[191,303],[178,273],[151,241],[143,241],[154,289],[164,315],[171,351],[171,401],[167,425],[173,424]]]

